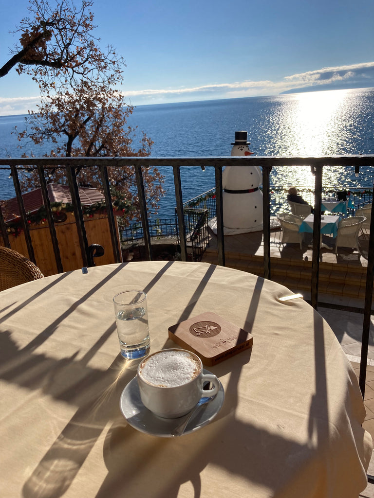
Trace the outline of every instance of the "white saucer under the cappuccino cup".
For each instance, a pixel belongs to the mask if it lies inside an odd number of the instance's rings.
[[[203,369],[203,373],[210,373]],[[206,405],[201,406],[188,422],[185,432],[189,434],[197,431],[204,425],[208,424],[222,407],[224,400],[224,390],[222,384],[217,395]],[[138,381],[134,377],[124,388],[120,398],[120,409],[127,422],[140,432],[151,434],[159,437],[173,437],[171,432],[178,425],[183,417],[180,418],[160,418],[154,415],[144,406],[140,399]]]

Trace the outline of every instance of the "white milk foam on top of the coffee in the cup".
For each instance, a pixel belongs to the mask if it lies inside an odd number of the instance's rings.
[[[159,351],[143,361],[139,372],[149,384],[175,387],[195,378],[200,363],[185,351]]]

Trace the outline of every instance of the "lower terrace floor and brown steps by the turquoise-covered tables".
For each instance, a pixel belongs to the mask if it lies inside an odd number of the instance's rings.
[[[289,289],[308,294],[312,274],[312,234],[304,235],[299,244],[282,244],[282,231],[274,219],[270,232],[271,279]],[[218,263],[217,236],[214,225],[209,228],[209,244],[202,261]],[[335,239],[323,235],[323,243],[332,249],[320,249],[319,292],[328,301],[340,304],[341,297],[352,298],[350,306],[364,307],[369,238],[360,235],[360,251],[339,248],[335,254]],[[225,265],[263,276],[263,233],[250,232],[224,236]]]

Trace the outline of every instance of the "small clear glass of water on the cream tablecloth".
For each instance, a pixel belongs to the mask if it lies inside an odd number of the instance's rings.
[[[150,350],[147,295],[142,290],[126,290],[113,297],[121,355],[142,358]]]

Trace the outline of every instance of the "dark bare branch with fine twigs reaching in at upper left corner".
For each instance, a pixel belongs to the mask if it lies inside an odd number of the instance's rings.
[[[19,42],[11,50],[13,56],[1,67],[0,77],[16,66],[18,74],[27,73],[38,81],[52,81],[63,76],[92,79],[121,73],[124,60],[112,46],[106,52],[98,48],[99,38],[93,35],[90,8],[92,0],[82,0],[76,7],[72,0],[30,0],[31,16],[24,17],[13,33],[20,33]]]

